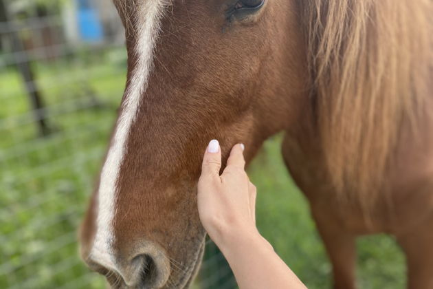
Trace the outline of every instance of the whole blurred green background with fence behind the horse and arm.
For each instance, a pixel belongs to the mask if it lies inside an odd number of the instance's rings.
[[[105,288],[78,257],[77,228],[126,77],[124,32],[109,0],[0,0],[0,288]],[[309,288],[331,267],[308,205],[282,164],[280,136],[249,168],[257,222]],[[403,288],[394,239],[359,239],[359,288]],[[194,288],[236,288],[207,242]]]

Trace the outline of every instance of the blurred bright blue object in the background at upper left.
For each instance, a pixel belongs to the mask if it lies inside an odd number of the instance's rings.
[[[77,0],[78,2],[78,31],[80,38],[85,42],[99,42],[104,39],[102,23],[89,0]]]

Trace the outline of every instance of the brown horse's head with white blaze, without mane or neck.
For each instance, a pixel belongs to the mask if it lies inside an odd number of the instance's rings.
[[[114,288],[185,288],[201,262],[201,158],[211,139],[251,160],[302,111],[307,65],[296,1],[115,0],[128,77],[81,230]]]

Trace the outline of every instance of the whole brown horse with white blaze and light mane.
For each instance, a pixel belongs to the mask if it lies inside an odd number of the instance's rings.
[[[355,239],[395,236],[408,288],[433,288],[430,0],[114,0],[128,73],[80,254],[113,288],[188,288],[206,232],[203,149],[249,163],[284,133],[335,288]],[[260,192],[259,192],[260,193]]]

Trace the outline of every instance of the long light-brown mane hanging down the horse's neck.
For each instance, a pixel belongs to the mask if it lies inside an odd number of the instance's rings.
[[[342,197],[372,204],[384,189],[401,124],[419,123],[431,93],[432,3],[300,1],[315,129]]]

